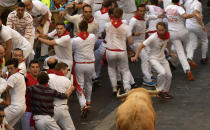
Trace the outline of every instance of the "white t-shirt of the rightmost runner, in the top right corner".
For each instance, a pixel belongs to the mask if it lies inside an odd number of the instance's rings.
[[[198,0],[187,0],[184,4],[186,13],[187,14],[193,14],[195,10],[199,11],[202,15],[202,4]],[[199,25],[196,18],[190,18],[186,19],[186,25],[188,26],[194,26]]]

